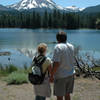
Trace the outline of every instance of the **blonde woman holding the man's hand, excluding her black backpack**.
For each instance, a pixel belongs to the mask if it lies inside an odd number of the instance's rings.
[[[41,60],[43,57],[46,57],[47,45],[45,43],[41,43],[37,47],[37,56],[35,59]],[[35,92],[35,100],[46,100],[46,97],[51,96],[51,89],[49,83],[49,74],[51,73],[51,59],[46,57],[45,61],[42,64],[42,71],[45,74],[45,78],[42,84],[34,85]],[[48,74],[49,73],[49,74]]]

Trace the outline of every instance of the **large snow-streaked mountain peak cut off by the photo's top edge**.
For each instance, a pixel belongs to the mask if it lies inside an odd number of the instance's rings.
[[[56,5],[52,0],[22,0],[16,4],[8,6],[16,10],[29,10],[29,9],[59,9],[63,10],[63,7]]]

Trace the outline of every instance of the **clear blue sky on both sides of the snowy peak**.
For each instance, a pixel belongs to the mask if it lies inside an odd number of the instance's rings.
[[[10,5],[19,1],[20,0],[0,0],[0,4]],[[53,1],[63,7],[74,5],[83,8],[100,4],[100,0],[53,0]]]

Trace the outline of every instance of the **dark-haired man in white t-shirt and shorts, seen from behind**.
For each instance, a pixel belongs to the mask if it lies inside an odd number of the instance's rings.
[[[70,93],[74,87],[74,47],[66,43],[67,35],[59,32],[56,35],[58,44],[53,54],[53,70],[50,81],[54,79],[54,95],[57,100],[71,100]]]

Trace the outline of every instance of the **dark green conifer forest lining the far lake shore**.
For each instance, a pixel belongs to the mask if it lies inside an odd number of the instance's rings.
[[[100,14],[61,13],[57,10],[52,13],[45,11],[43,14],[20,12],[0,15],[0,28],[95,29],[100,26],[99,19]]]

